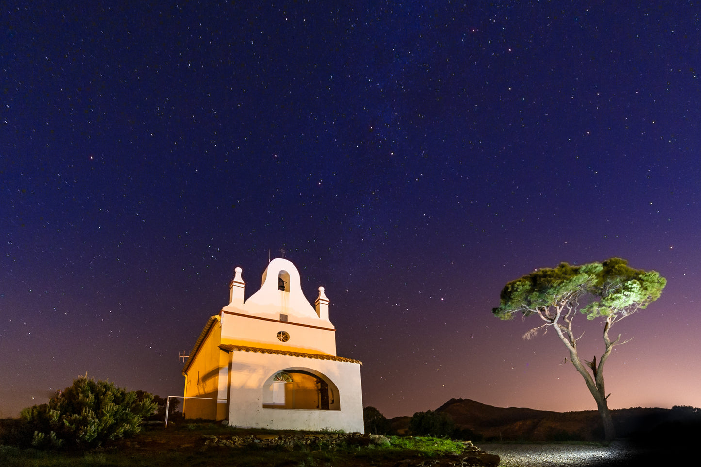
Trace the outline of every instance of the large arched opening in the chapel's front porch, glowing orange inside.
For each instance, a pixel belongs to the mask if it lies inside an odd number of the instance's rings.
[[[341,410],[339,389],[311,368],[275,372],[263,384],[264,409]]]

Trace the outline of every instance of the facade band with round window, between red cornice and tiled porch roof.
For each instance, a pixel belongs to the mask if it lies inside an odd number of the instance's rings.
[[[278,340],[286,331],[290,340]],[[336,355],[336,331],[296,325],[292,322],[261,320],[222,311],[222,344],[273,348],[293,352]]]

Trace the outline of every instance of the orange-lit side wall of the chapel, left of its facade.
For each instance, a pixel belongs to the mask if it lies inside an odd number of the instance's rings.
[[[217,414],[217,406],[221,405],[217,404],[217,399],[220,395],[220,368],[222,367],[222,356],[220,354],[226,354],[219,349],[220,334],[221,326],[219,322],[214,323],[187,370],[185,399],[183,401],[183,414],[187,419],[224,419]],[[228,361],[226,370],[228,372]],[[226,381],[224,383],[226,384]],[[189,397],[210,399],[188,399]],[[225,417],[225,412],[222,412],[222,414]]]

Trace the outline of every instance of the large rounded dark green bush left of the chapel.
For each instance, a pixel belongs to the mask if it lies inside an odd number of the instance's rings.
[[[48,404],[22,410],[20,432],[25,445],[85,449],[139,433],[142,418],[155,410],[151,395],[139,400],[113,383],[80,377]]]

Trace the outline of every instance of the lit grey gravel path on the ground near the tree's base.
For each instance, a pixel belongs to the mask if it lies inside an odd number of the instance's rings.
[[[504,467],[625,466],[640,459],[641,452],[625,442],[609,446],[567,444],[501,444],[475,442],[475,446],[501,457]]]

